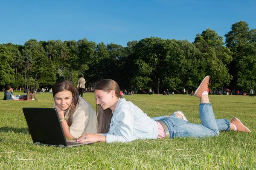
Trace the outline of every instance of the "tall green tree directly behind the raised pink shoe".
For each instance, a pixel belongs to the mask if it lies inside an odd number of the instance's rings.
[[[228,85],[232,76],[228,73],[227,64],[232,61],[232,53],[227,47],[224,47],[223,38],[218,36],[214,30],[207,28],[202,34],[197,34],[194,44],[201,51],[201,63],[205,74],[202,76],[209,75],[211,77],[209,80],[210,90]]]

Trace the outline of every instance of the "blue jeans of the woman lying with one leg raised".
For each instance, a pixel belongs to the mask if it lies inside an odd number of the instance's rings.
[[[199,105],[199,113],[202,124],[189,123],[183,119],[177,118],[174,114],[172,116],[159,116],[154,117],[154,120],[162,120],[169,129],[170,138],[175,137],[205,137],[205,136],[217,136],[219,134],[218,124],[221,129],[227,127],[226,121],[218,121],[217,124],[212,105],[209,103],[202,103]],[[223,120],[223,119],[218,119]],[[226,122],[224,125],[223,122]],[[228,127],[227,127],[228,128]],[[226,128],[226,129],[227,129]],[[230,128],[230,127],[229,127]]]

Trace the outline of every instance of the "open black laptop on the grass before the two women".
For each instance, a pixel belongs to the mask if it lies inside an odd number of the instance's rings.
[[[66,140],[55,108],[23,108],[29,133],[35,144],[57,147],[72,147],[93,142]]]

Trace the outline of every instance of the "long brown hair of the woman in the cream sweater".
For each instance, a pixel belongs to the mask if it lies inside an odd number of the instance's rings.
[[[58,92],[61,92],[61,91],[65,91],[65,90],[70,91],[72,93],[72,97],[73,97],[71,105],[68,108],[67,112],[65,113],[65,115],[68,116],[67,125],[71,126],[72,122],[73,122],[73,114],[74,114],[76,105],[78,104],[78,100],[79,100],[79,95],[77,93],[75,86],[67,80],[58,81],[52,87],[52,95],[54,98],[55,94],[57,94]]]

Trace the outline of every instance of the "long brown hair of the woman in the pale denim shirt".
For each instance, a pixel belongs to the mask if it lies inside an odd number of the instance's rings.
[[[120,88],[119,85],[117,84],[116,81],[112,79],[102,79],[99,82],[96,83],[94,87],[95,90],[102,90],[105,92],[110,93],[111,90],[115,91],[116,97],[122,98],[120,94]],[[112,111],[110,108],[103,110],[101,107],[96,105],[96,110],[97,110],[97,130],[98,133],[108,133],[110,123],[111,123],[111,118],[113,116]]]

